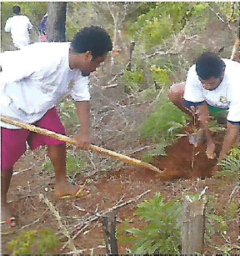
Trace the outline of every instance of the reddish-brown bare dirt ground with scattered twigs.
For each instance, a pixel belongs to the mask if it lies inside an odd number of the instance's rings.
[[[219,153],[223,138],[218,136],[217,140]],[[13,176],[9,192],[9,200],[12,202],[22,229],[18,233],[2,236],[2,253],[11,253],[7,243],[18,237],[21,232],[42,228],[53,228],[57,236],[62,238],[61,245],[54,252],[48,253],[71,252],[71,248],[67,246],[62,248],[67,239],[62,235],[62,228],[59,228],[57,218],[44,200],[39,198],[39,193],[42,193],[43,197],[57,208],[62,223],[71,237],[75,237],[72,240],[78,253],[106,253],[100,218],[85,224],[82,224],[82,219],[95,217],[96,213],[126,202],[129,198],[136,198],[148,189],[150,192],[136,202],[117,209],[117,225],[128,218],[133,220],[131,225],[135,228],[143,226],[143,223],[134,215],[134,211],[138,203],[153,198],[157,192],[162,193],[166,200],[177,199],[183,198],[183,193],[198,193],[206,186],[208,186],[208,195],[216,198],[213,213],[223,213],[229,202],[238,203],[238,187],[236,187],[238,177],[234,180],[212,177],[212,169],[216,161],[208,160],[204,152],[203,144],[195,148],[193,164],[193,146],[185,137],[178,139],[177,143],[167,149],[168,156],[155,158],[153,164],[163,170],[161,174],[129,167],[90,178],[84,178],[79,174],[76,176],[77,183],[85,183],[92,188],[92,193],[87,198],[73,200],[53,198],[54,177],[37,168],[41,164],[36,163],[39,161],[37,160],[39,156],[40,162],[44,160],[44,152],[42,153],[41,149],[34,153],[28,152],[15,166],[15,172],[19,173]],[[29,168],[29,164],[32,168]],[[99,179],[100,176],[101,179]],[[212,244],[207,243],[203,253],[221,253],[217,247],[223,248],[227,245],[229,248],[232,246],[231,253],[239,253],[238,249],[234,248],[238,245],[239,238],[238,219],[230,219],[227,224],[225,237],[217,230],[213,235]],[[218,226],[214,228],[218,229]],[[129,244],[118,243],[119,253],[129,253],[129,247]]]

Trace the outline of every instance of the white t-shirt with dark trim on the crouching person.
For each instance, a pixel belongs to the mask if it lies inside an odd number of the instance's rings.
[[[213,91],[203,88],[196,64],[188,70],[183,98],[188,102],[206,101],[210,106],[228,109],[228,121],[240,122],[240,63],[223,58],[226,64],[222,83]]]

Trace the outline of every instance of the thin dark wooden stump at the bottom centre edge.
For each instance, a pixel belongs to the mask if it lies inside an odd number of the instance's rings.
[[[106,243],[107,254],[118,254],[115,212],[107,213],[107,215],[102,216],[102,230]]]

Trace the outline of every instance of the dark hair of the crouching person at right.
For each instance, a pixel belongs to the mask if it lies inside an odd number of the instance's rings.
[[[206,80],[208,78],[220,78],[225,68],[223,59],[217,54],[208,52],[203,53],[196,63],[196,72],[199,78]]]

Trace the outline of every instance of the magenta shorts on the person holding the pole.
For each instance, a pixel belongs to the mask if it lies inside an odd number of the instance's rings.
[[[45,128],[55,133],[66,135],[65,128],[57,113],[57,108],[52,108],[37,121],[32,123],[40,128]],[[26,142],[31,149],[43,145],[61,145],[65,144],[56,138],[50,138],[45,135],[32,133],[25,129],[7,129],[1,128],[1,170],[2,172],[13,168],[14,163],[25,153],[27,149]]]

